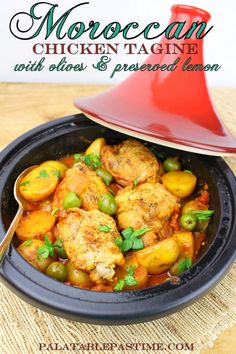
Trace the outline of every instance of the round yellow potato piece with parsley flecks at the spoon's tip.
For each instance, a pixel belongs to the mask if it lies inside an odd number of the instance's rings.
[[[20,193],[29,202],[40,202],[54,192],[58,181],[55,168],[41,165],[23,178],[20,184]]]

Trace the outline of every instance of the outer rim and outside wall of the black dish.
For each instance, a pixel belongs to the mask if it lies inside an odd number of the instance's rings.
[[[83,115],[60,118],[17,138],[0,153],[0,201],[4,181],[27,147],[83,127],[98,126]],[[105,129],[105,128],[104,128]],[[109,129],[108,129],[109,130]],[[164,283],[138,291],[104,293],[82,290],[59,283],[28,264],[11,246],[2,267],[3,281],[23,299],[48,312],[91,323],[132,323],[162,317],[196,301],[225,274],[236,256],[236,181],[221,158],[200,156],[212,167],[221,195],[221,219],[217,236],[206,254],[181,276],[180,284]],[[15,171],[16,176],[21,171]],[[12,191],[9,191],[12,193]],[[229,207],[223,201],[231,200]],[[1,209],[2,210],[2,209]],[[0,238],[5,234],[0,224]]]

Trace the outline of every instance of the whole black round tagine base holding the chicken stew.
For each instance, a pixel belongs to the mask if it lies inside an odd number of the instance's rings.
[[[26,167],[48,159],[83,151],[96,137],[118,143],[126,135],[88,120],[84,115],[61,118],[41,125],[16,139],[0,154],[0,239],[13,219],[16,202],[13,185]],[[150,144],[154,145],[154,144]],[[11,245],[1,267],[4,283],[29,303],[53,314],[73,320],[100,324],[135,323],[173,313],[196,301],[222,278],[236,255],[236,181],[221,158],[174,151],[186,168],[209,185],[210,207],[215,210],[207,230],[208,243],[198,261],[181,276],[179,284],[170,282],[152,288],[105,293],[61,284],[34,269]]]

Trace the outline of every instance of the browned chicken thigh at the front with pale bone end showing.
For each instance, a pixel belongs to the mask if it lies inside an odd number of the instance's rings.
[[[101,231],[101,225],[110,227]],[[116,265],[124,264],[124,257],[115,239],[120,237],[114,219],[99,210],[70,212],[58,223],[58,237],[77,269],[90,273],[96,283],[111,281]]]

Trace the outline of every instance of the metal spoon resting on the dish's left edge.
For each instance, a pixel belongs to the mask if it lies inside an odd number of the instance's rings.
[[[17,178],[17,180],[15,181],[14,184],[14,197],[15,200],[18,203],[18,210],[16,212],[16,215],[11,223],[11,225],[9,226],[9,229],[6,232],[6,235],[4,237],[4,239],[1,241],[0,243],[0,264],[3,261],[3,258],[5,256],[5,253],[8,249],[8,247],[10,246],[11,240],[14,236],[14,233],[16,231],[16,228],[19,224],[19,221],[22,217],[24,208],[23,208],[23,200],[24,198],[22,197],[20,191],[19,191],[19,186],[21,184],[22,179],[31,171],[33,170],[35,167],[37,167],[36,165],[34,166],[30,166],[28,168],[26,168]]]

